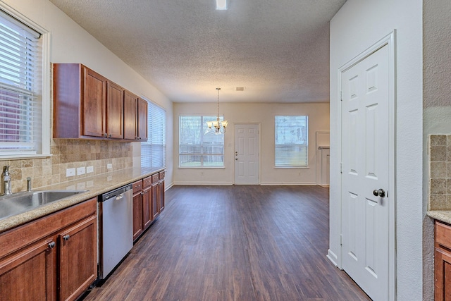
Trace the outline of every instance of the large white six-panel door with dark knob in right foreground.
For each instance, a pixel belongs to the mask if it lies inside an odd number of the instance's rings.
[[[388,300],[389,236],[394,232],[388,191],[394,152],[390,80],[387,44],[341,76],[342,268],[373,300]]]

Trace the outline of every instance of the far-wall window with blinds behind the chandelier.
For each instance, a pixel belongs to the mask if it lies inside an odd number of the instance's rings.
[[[209,133],[216,116],[179,117],[179,167],[224,167],[224,135]],[[219,118],[223,121],[223,116]]]

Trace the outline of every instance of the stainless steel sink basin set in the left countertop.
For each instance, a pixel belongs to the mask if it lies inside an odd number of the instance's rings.
[[[36,190],[0,197],[0,220],[87,190]]]

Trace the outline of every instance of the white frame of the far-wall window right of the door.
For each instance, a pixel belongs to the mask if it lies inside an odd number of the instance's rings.
[[[277,136],[278,136],[278,128],[277,128],[277,123],[276,123],[276,119],[278,117],[300,117],[300,118],[305,118],[305,129],[304,129],[304,133],[302,133],[302,137],[304,137],[304,143],[291,143],[291,144],[286,144],[286,143],[278,143],[277,142]],[[299,136],[299,131],[302,132],[301,128],[293,128],[293,130],[296,130],[296,133],[289,133],[293,136],[293,140],[295,140],[296,136]],[[300,156],[299,160],[301,160],[302,158],[305,158],[305,164],[277,164],[278,162],[278,158],[277,158],[277,154],[278,154],[278,145],[280,146],[292,146],[292,147],[299,147],[299,149],[301,147],[304,147],[305,149],[305,156]],[[287,152],[280,152],[280,154],[286,154]],[[300,154],[300,152],[299,152]],[[279,160],[281,161],[281,160]],[[309,168],[309,116],[307,115],[278,115],[274,117],[274,166],[276,168]]]

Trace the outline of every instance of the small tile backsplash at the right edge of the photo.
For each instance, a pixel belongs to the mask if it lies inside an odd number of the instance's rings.
[[[429,135],[428,210],[451,210],[451,135]]]

